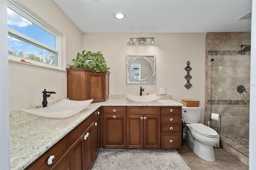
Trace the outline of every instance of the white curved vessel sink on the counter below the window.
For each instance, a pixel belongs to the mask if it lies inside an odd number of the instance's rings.
[[[84,101],[74,101],[68,99],[62,99],[60,102],[50,105],[48,107],[42,107],[39,109],[21,109],[22,111],[38,115],[42,117],[51,118],[66,118],[75,115],[76,113],[85,109],[93,99]]]

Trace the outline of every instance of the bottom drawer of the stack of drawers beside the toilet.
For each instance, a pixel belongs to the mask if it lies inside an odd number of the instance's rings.
[[[161,149],[179,149],[181,148],[180,132],[162,132],[161,133]]]

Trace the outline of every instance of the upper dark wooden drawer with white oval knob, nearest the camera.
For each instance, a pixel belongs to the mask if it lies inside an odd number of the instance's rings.
[[[62,155],[68,150],[69,147],[69,135],[64,136],[59,142],[47,150],[42,156],[37,158],[32,164],[30,164],[26,170],[43,170],[50,169],[56,162],[62,157]],[[55,159],[51,165],[47,164],[48,158],[54,155]]]

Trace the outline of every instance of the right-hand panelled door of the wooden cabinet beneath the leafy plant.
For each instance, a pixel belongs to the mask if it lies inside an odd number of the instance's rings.
[[[105,101],[106,74],[86,72],[86,99],[93,99],[92,103]]]

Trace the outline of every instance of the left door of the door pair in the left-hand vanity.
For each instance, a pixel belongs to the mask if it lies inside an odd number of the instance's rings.
[[[84,167],[83,140],[84,133],[70,147],[70,170],[82,170]]]

